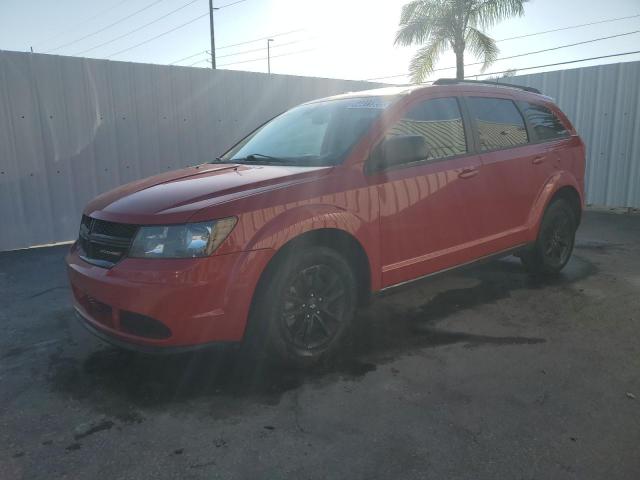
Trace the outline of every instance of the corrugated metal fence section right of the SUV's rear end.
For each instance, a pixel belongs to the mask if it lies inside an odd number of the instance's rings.
[[[553,97],[587,146],[587,202],[640,207],[640,62],[505,79]]]

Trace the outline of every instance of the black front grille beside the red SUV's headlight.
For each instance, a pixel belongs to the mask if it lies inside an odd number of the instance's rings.
[[[137,225],[106,222],[83,215],[78,237],[81,256],[89,263],[111,268],[127,256],[137,231]]]

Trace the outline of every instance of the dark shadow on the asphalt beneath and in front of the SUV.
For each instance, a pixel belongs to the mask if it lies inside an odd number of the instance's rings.
[[[501,260],[467,269],[464,276],[474,280],[473,286],[440,291],[417,307],[404,307],[402,298],[390,295],[358,315],[353,334],[331,363],[310,371],[250,362],[233,348],[149,356],[105,347],[81,358],[60,347],[50,356],[48,379],[55,391],[94,403],[118,418],[127,418],[132,408],[203,398],[226,405],[234,403],[229,398],[276,404],[283,393],[304,383],[357,379],[416,349],[454,343],[467,347],[542,343],[543,338],[476,335],[438,324],[459,312],[506,299],[516,290],[563,288],[595,271],[590,262],[574,256],[560,276],[542,280],[528,276],[515,261]],[[410,292],[420,296],[424,288],[425,284],[416,285]]]

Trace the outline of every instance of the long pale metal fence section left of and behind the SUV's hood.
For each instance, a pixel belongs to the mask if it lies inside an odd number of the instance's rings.
[[[0,51],[0,251],[73,239],[101,192],[371,83]]]

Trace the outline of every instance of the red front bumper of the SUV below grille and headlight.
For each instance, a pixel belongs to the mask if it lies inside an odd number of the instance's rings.
[[[93,333],[136,350],[191,349],[242,340],[253,292],[271,250],[194,259],[126,258],[111,269],[82,260],[67,270],[74,308]],[[142,318],[156,330],[132,330]],[[123,345],[124,344],[124,345]]]

